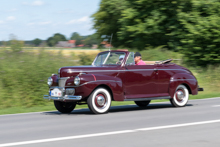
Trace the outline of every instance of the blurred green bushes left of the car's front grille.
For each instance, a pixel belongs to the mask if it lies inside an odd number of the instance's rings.
[[[62,53],[0,52],[0,109],[46,104],[47,78],[60,67],[73,65]]]

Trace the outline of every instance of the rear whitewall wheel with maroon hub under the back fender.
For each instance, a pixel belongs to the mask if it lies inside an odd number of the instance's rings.
[[[189,100],[189,91],[184,85],[179,85],[176,88],[174,97],[170,99],[171,104],[174,107],[184,107]]]

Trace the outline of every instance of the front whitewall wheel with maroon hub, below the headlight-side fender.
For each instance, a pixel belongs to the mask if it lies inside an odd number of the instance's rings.
[[[107,113],[111,106],[111,95],[108,90],[98,88],[89,96],[87,104],[95,114]]]

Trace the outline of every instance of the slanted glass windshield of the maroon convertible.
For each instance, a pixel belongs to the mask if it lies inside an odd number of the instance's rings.
[[[98,55],[93,65],[121,65],[124,57],[125,53],[123,52],[105,52]]]

